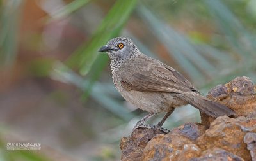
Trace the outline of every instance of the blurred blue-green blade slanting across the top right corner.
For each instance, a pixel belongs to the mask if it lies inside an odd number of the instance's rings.
[[[239,20],[221,1],[207,0],[204,3],[207,4],[207,8],[218,22],[223,34],[227,36],[230,45],[236,48],[240,57],[248,62],[250,55],[254,55],[256,50],[255,36],[246,31]]]

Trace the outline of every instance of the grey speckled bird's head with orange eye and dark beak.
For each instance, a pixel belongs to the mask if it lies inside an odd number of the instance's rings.
[[[98,52],[107,52],[111,60],[128,60],[140,53],[131,39],[124,37],[113,38]]]

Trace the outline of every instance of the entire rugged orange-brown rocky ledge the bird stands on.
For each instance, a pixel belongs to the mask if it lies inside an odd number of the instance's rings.
[[[237,116],[211,118],[201,113],[202,123],[185,123],[168,134],[136,129],[121,140],[122,160],[255,160],[256,86],[238,77],[212,88],[207,97],[234,109]]]

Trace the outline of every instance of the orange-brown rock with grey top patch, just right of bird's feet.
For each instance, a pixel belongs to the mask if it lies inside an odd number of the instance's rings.
[[[142,160],[179,160],[197,157],[201,150],[193,143],[204,134],[204,131],[204,125],[186,123],[166,135],[156,135],[145,147]]]

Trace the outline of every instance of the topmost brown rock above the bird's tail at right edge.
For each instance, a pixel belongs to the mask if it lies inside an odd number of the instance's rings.
[[[248,77],[237,77],[230,83],[217,85],[209,90],[207,97],[234,109],[236,117],[256,117],[256,86]],[[202,123],[207,125],[207,121]]]

